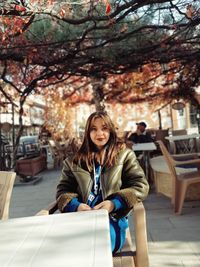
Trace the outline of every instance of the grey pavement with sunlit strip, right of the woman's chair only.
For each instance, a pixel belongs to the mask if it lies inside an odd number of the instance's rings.
[[[144,205],[151,266],[200,267],[200,202],[186,202],[182,215],[155,193]]]

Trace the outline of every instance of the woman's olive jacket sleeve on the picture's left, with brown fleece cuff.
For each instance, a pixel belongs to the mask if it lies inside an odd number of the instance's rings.
[[[77,187],[77,181],[70,170],[67,160],[65,160],[56,192],[58,209],[61,212],[64,212],[65,207],[73,198],[78,198]]]

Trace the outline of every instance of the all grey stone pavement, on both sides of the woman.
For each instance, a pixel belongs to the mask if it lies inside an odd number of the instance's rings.
[[[54,201],[60,172],[49,166],[38,175],[42,177],[38,184],[14,186],[10,218],[35,215]],[[144,205],[150,266],[200,267],[200,202],[185,203],[181,216],[173,213],[168,198],[155,193]]]

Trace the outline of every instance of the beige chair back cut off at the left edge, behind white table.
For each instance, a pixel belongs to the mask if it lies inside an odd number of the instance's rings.
[[[9,216],[10,199],[15,181],[15,172],[0,171],[0,219]]]

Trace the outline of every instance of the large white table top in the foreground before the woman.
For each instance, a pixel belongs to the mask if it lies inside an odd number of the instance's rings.
[[[1,267],[112,267],[106,210],[0,222]]]

